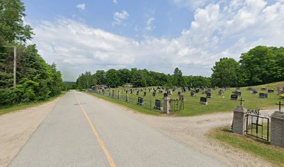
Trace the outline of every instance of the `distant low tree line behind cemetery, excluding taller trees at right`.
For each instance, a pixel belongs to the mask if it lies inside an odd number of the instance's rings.
[[[95,74],[85,72],[81,74],[77,81],[77,88],[86,89],[95,85],[107,85],[111,88],[123,86],[126,83],[134,87],[146,86],[211,86],[211,79],[202,76],[182,76],[182,71],[175,68],[173,74],[164,74],[161,72],[148,71],[137,68],[128,69],[110,69],[107,72],[97,70]]]

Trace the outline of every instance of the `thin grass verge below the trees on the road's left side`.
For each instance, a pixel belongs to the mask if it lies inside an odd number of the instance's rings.
[[[26,103],[19,103],[19,104],[13,104],[13,105],[7,105],[7,106],[0,106],[0,116],[5,113],[11,113],[14,111],[19,111],[22,109],[27,109],[32,106],[38,106],[40,104],[45,104],[46,102],[50,102],[52,100],[55,100],[57,97],[60,97],[62,95],[65,95],[68,91],[62,91],[60,95],[56,95],[54,97],[50,97],[47,100],[38,101],[38,102],[26,102]]]

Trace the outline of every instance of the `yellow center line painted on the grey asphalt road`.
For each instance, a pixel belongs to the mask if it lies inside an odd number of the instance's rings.
[[[74,93],[73,93],[73,95],[74,95]],[[95,134],[95,138],[97,138],[97,141],[99,142],[100,147],[104,151],[104,154],[106,155],[107,160],[109,161],[109,164],[111,165],[111,167],[116,167],[116,164],[114,164],[113,159],[111,158],[111,155],[109,154],[109,152],[107,151],[106,146],[104,146],[104,143],[102,142],[102,139],[100,138],[99,134],[97,134],[97,131],[95,130],[95,126],[93,125],[93,122],[90,121],[90,117],[88,116],[88,113],[85,111],[84,107],[81,105],[81,103],[78,100],[77,96],[74,95],[74,97],[76,98],[79,106],[81,106],[81,110],[83,111],[86,119],[88,120],[88,123],[90,124],[90,127],[92,128],[93,133]]]

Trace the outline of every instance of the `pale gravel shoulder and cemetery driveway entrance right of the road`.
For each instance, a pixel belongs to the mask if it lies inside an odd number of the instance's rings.
[[[97,97],[94,98],[102,100]],[[102,101],[107,102],[105,100]],[[125,106],[113,104],[111,102],[108,103],[126,111],[129,116],[141,120],[141,122],[145,122],[145,124],[154,127],[159,132],[171,136],[177,141],[189,145],[191,148],[200,150],[203,154],[219,159],[219,161],[228,166],[274,166],[265,160],[233,148],[230,145],[224,145],[207,136],[210,129],[230,126],[232,124],[232,112],[191,117],[149,116],[127,109]],[[269,109],[261,112],[271,115],[274,111],[277,111],[277,109]]]

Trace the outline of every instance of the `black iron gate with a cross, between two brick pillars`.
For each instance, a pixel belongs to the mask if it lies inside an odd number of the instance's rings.
[[[246,112],[246,134],[269,141],[269,116],[260,116],[260,109]]]

